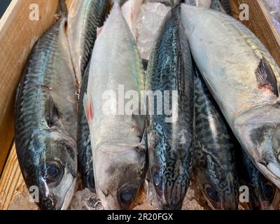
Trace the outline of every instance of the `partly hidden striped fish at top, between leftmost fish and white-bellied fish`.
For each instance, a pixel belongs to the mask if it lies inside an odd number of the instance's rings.
[[[97,37],[97,27],[102,27],[111,8],[110,0],[71,1],[68,15],[68,38],[71,57],[78,83],[90,62]]]

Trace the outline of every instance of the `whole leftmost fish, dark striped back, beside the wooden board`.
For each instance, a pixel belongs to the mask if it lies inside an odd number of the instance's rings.
[[[76,186],[76,80],[62,16],[34,45],[15,105],[15,146],[41,209],[67,209]]]

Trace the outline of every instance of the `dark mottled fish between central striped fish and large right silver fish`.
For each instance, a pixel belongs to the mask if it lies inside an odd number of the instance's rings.
[[[237,209],[235,146],[229,127],[200,72],[195,68],[193,176],[212,209]]]

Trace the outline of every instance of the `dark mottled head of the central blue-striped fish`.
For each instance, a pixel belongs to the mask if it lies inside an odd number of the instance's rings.
[[[185,140],[181,142],[181,134],[177,134],[178,139],[169,141],[164,136],[162,128],[163,126],[158,124],[155,129],[148,130],[151,182],[157,195],[159,208],[179,210],[190,183],[192,153],[186,150],[190,146],[186,145]],[[184,134],[183,139],[189,139],[186,132],[181,133]],[[187,142],[190,144],[192,141],[187,140]]]

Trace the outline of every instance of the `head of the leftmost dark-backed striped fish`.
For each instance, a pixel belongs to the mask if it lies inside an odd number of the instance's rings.
[[[39,206],[45,210],[69,207],[76,188],[77,150],[70,137],[59,132],[38,135],[34,148],[39,152],[36,186]]]

